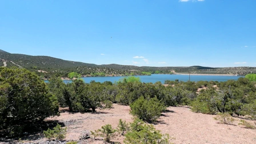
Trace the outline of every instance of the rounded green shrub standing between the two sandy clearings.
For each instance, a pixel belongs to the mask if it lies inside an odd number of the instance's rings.
[[[131,105],[131,114],[143,119],[147,122],[154,122],[160,117],[161,113],[166,110],[166,107],[156,97],[149,100],[144,97],[139,97],[137,101]]]

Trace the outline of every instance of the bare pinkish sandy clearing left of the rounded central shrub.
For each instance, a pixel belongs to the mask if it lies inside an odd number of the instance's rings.
[[[84,131],[94,131],[101,128],[101,126],[110,124],[117,127],[119,119],[126,122],[132,122],[133,116],[129,114],[130,106],[123,106],[114,104],[114,109],[97,109],[97,113],[61,113],[59,117],[47,118],[46,120],[58,120],[67,124],[67,141],[78,141]],[[73,123],[73,124],[72,124]],[[123,141],[123,137],[117,137],[114,141]],[[103,143],[103,141],[94,141],[95,143]],[[90,142],[90,143],[94,143]]]

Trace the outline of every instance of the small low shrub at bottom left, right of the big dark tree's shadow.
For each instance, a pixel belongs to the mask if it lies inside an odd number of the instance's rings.
[[[55,138],[55,139],[57,139],[59,141],[62,141],[66,137],[65,136],[66,135],[66,131],[67,131],[66,127],[63,129],[63,128],[61,128],[61,125],[57,124],[57,126],[55,126],[53,128],[53,130],[48,129],[47,131],[43,131],[43,134],[49,140],[51,138]]]

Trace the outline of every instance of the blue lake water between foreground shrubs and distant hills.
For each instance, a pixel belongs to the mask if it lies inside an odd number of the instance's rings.
[[[165,80],[170,80],[174,81],[175,79],[179,79],[179,81],[189,81],[189,75],[171,75],[171,74],[152,74],[152,75],[139,75],[139,76],[134,76],[134,77],[139,77],[141,79],[141,82],[145,83],[155,83],[155,82],[162,82],[164,83]],[[227,81],[230,79],[237,80],[242,76],[224,76],[224,75],[190,75],[190,81]],[[110,81],[110,82],[116,82],[119,81],[123,77],[84,77],[82,78],[86,83],[90,83],[90,81],[95,81],[95,82],[105,82],[105,81]],[[47,82],[47,81],[45,81]],[[67,82],[72,82],[71,80],[64,80],[65,83]]]

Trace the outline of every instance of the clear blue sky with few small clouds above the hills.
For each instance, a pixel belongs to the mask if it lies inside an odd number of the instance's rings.
[[[0,49],[95,64],[256,66],[255,0],[0,1]]]

